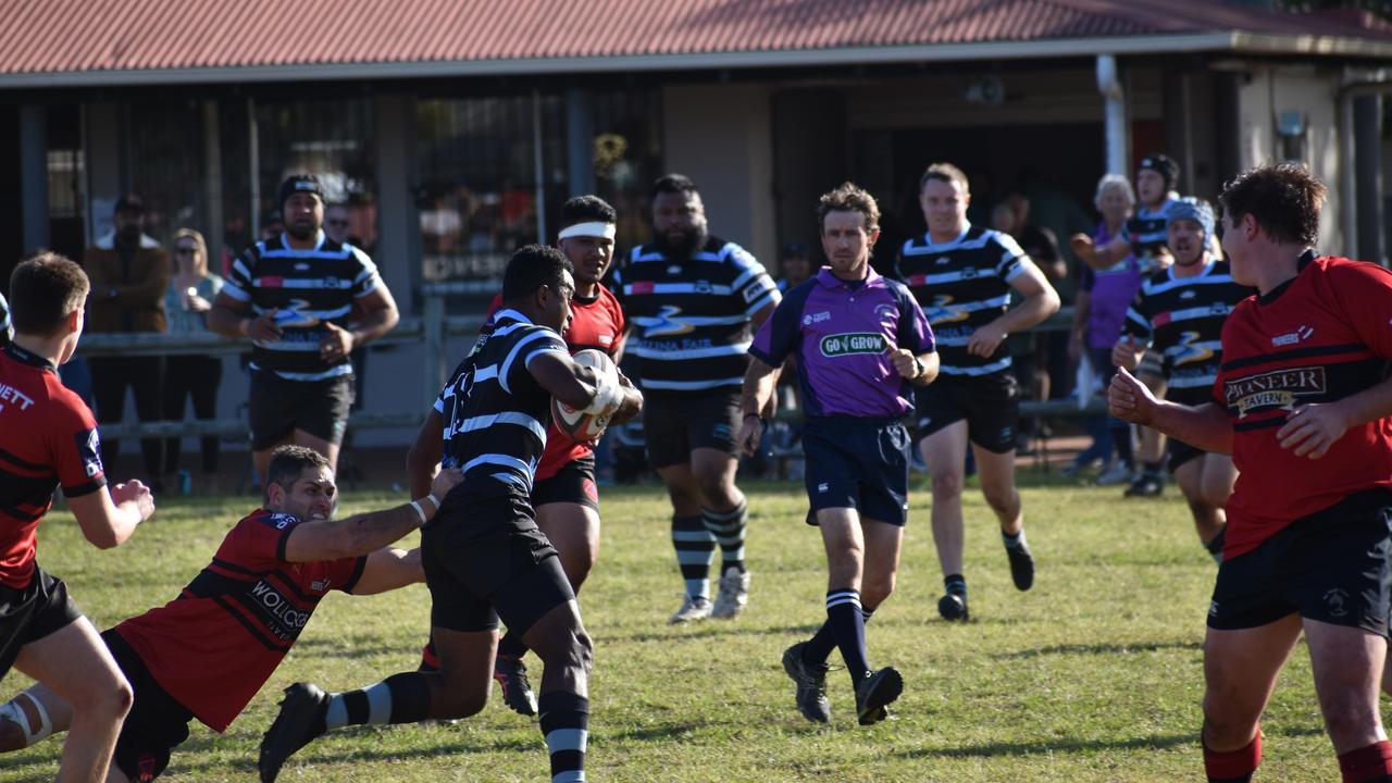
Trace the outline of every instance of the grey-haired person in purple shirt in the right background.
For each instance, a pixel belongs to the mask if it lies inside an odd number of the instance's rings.
[[[1104,248],[1121,235],[1126,220],[1136,206],[1136,194],[1130,181],[1121,174],[1105,174],[1097,183],[1097,196],[1093,199],[1102,222],[1093,231],[1093,244]],[[1068,354],[1073,361],[1084,361],[1094,376],[1101,379],[1102,389],[1112,382],[1116,365],[1112,364],[1112,346],[1126,320],[1130,307],[1143,279],[1140,261],[1128,255],[1115,266],[1096,270],[1091,266],[1079,268],[1077,300],[1073,311],[1073,329],[1068,341]],[[1083,390],[1079,390],[1082,393]],[[1130,425],[1122,419],[1097,417],[1089,426],[1093,443],[1077,454],[1069,475],[1076,475],[1094,460],[1105,465],[1097,483],[1121,483],[1132,474]],[[1112,461],[1112,454],[1116,461]]]

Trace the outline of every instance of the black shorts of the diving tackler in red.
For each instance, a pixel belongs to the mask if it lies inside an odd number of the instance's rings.
[[[155,681],[145,660],[114,628],[103,631],[102,641],[135,692],[135,702],[116,740],[111,763],[131,780],[142,780],[142,775],[153,780],[168,766],[170,751],[188,738],[193,713]]]

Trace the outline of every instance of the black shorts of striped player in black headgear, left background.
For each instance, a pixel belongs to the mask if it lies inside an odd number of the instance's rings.
[[[274,372],[252,371],[248,425],[252,450],[264,451],[301,429],[330,443],[342,443],[352,407],[351,375],[326,380],[287,380]]]

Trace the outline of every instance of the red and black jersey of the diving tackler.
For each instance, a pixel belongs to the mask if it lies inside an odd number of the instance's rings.
[[[299,524],[264,509],[228,531],[178,598],[116,627],[150,676],[214,731],[266,684],[330,589],[351,592],[366,557],[285,561]]]

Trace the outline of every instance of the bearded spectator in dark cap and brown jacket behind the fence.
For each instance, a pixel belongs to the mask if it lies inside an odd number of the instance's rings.
[[[170,259],[164,248],[142,231],[145,202],[134,194],[117,201],[114,223],[116,231],[88,248],[82,262],[92,281],[86,330],[93,334],[164,332],[164,290],[168,288]],[[164,357],[102,357],[93,358],[90,368],[97,422],[121,421],[127,387],[135,394],[135,415],[139,421],[160,418]],[[118,440],[103,440],[103,464],[114,465],[120,453]],[[159,439],[142,439],[141,453],[150,486],[159,493],[164,489],[159,481]]]

